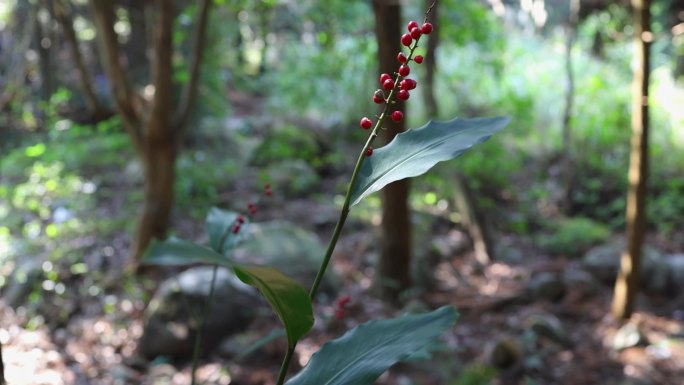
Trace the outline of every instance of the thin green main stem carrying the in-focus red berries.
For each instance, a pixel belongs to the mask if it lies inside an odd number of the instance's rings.
[[[432,7],[430,9],[432,9]],[[406,64],[411,62],[411,59],[413,58],[413,52],[416,50],[416,48],[418,48],[418,42],[415,42],[413,47],[410,47],[410,52]],[[378,116],[378,121],[375,123],[375,127],[373,127],[371,134],[368,136],[368,139],[366,140],[366,144],[364,144],[363,149],[359,153],[359,157],[356,160],[354,171],[352,172],[351,179],[349,180],[349,185],[347,186],[347,194],[344,197],[344,203],[342,204],[342,209],[340,210],[340,217],[337,220],[337,224],[335,224],[335,229],[333,230],[333,235],[330,238],[330,242],[328,243],[328,248],[325,251],[325,256],[323,257],[321,266],[318,269],[318,273],[316,273],[316,278],[314,279],[314,282],[311,285],[311,290],[309,291],[309,298],[311,299],[312,303],[316,298],[316,294],[318,294],[318,288],[321,284],[321,281],[323,280],[323,276],[325,275],[326,270],[328,269],[328,265],[330,264],[330,260],[332,259],[333,251],[335,251],[337,241],[340,238],[340,234],[342,234],[342,228],[344,227],[344,223],[347,221],[347,216],[349,215],[349,209],[351,207],[352,191],[354,189],[354,185],[356,184],[356,180],[359,177],[359,172],[361,172],[361,166],[363,166],[363,161],[366,159],[366,152],[368,151],[368,148],[373,144],[375,138],[378,137],[378,131],[382,128],[382,125],[385,122],[385,119],[387,118],[390,106],[395,103],[396,94],[400,88],[399,83],[402,79],[403,76],[397,73],[396,78],[394,80],[394,88],[392,88],[389,95],[387,96],[385,108],[383,109],[380,116]],[[292,361],[292,357],[294,356],[296,346],[297,343],[295,342],[295,344],[287,350],[287,353],[283,358],[283,363],[280,366],[280,372],[278,374],[278,380],[276,381],[276,385],[283,385],[285,383],[287,369],[290,366],[290,361]]]

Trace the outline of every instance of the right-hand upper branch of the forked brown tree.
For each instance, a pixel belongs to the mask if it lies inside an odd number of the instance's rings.
[[[176,116],[174,116],[174,127],[177,132],[177,138],[182,136],[188,117],[190,116],[190,109],[195,97],[197,96],[197,88],[199,83],[199,71],[202,65],[202,53],[206,45],[207,24],[209,19],[209,8],[211,0],[202,0],[199,5],[199,17],[195,25],[195,37],[192,45],[192,57],[190,62],[190,80],[185,84],[181,99],[178,105]]]

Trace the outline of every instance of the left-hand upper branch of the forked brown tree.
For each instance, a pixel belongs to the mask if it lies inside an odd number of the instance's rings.
[[[110,0],[90,0],[90,5],[97,26],[102,64],[107,72],[116,108],[124,128],[133,139],[133,144],[140,150],[143,144],[143,134],[139,126],[140,117],[135,110],[136,95],[131,91],[121,65],[118,36],[114,31],[114,4]]]

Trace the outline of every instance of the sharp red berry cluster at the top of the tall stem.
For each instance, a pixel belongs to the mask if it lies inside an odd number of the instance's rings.
[[[397,61],[401,64],[395,73],[396,79],[393,79],[392,76],[387,73],[380,75],[380,86],[382,88],[375,90],[373,93],[373,102],[376,104],[391,104],[394,102],[394,97],[399,100],[408,100],[408,98],[411,96],[409,91],[416,88],[416,81],[406,78],[411,73],[409,63],[411,61],[415,62],[416,64],[423,63],[423,56],[416,55],[413,57],[413,51],[415,51],[415,49],[418,47],[418,40],[420,40],[420,37],[422,35],[429,35],[432,33],[433,27],[432,24],[428,22],[423,23],[423,25],[419,25],[416,21],[411,21],[406,26],[406,29],[408,29],[408,33],[405,33],[401,36],[401,44],[408,47],[410,52],[408,56],[403,52],[399,52],[399,54],[397,54]],[[385,91],[389,91],[389,95],[385,96]],[[402,119],[404,119],[404,113],[399,110],[393,111],[390,115],[390,119],[392,119],[394,122],[400,122]],[[368,117],[364,117],[359,122],[359,125],[364,130],[368,130],[373,127],[373,121]],[[366,150],[366,156],[371,155],[373,155],[373,147],[369,146]]]

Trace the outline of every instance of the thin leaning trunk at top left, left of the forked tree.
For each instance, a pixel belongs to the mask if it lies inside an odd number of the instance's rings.
[[[95,90],[93,89],[93,83],[88,75],[88,69],[85,66],[83,60],[83,55],[78,47],[78,39],[76,38],[76,32],[74,31],[74,24],[65,9],[65,5],[62,0],[57,0],[53,2],[55,16],[57,21],[62,26],[62,33],[64,34],[64,39],[66,39],[69,45],[69,50],[71,51],[71,57],[74,60],[74,66],[76,67],[76,72],[78,73],[78,79],[81,83],[81,90],[83,91],[83,96],[88,108],[88,112],[92,117],[98,117],[99,115],[105,113],[105,109],[102,107],[100,102],[95,95]]]

